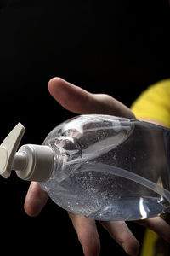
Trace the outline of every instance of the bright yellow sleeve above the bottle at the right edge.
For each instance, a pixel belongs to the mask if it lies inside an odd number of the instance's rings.
[[[149,86],[133,102],[131,110],[137,119],[153,119],[170,128],[170,79]]]

